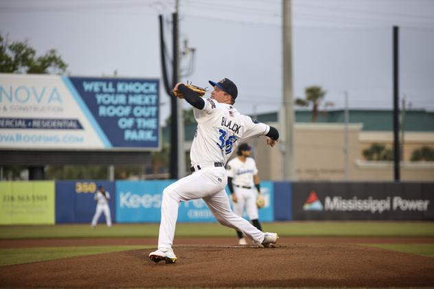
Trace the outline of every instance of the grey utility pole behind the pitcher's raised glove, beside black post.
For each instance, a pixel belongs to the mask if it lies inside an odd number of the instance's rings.
[[[176,45],[176,49],[174,49],[174,54],[176,53],[176,58],[173,58],[173,61],[176,61],[176,80],[181,81],[181,69],[180,69],[180,59],[179,59],[179,0],[175,1],[175,15],[176,15],[176,23],[173,24],[174,34],[176,35],[176,39],[174,38],[174,45]],[[175,52],[176,51],[176,52]],[[176,117],[172,116],[172,119],[176,119],[176,124],[178,128],[178,146],[177,148],[177,163],[178,166],[176,168],[178,178],[182,178],[185,176],[185,132],[184,132],[184,117],[183,117],[183,102],[176,98]]]

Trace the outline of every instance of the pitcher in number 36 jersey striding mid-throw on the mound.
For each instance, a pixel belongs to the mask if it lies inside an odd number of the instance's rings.
[[[176,262],[172,244],[179,203],[197,198],[205,201],[220,224],[249,236],[254,244],[269,246],[278,240],[277,233],[263,233],[231,211],[225,191],[225,164],[238,143],[264,135],[267,137],[266,142],[273,147],[279,138],[279,132],[272,126],[240,114],[233,107],[238,89],[231,80],[223,78],[219,82],[209,83],[214,86],[209,99],[199,97],[187,84],[178,83],[174,87],[174,91],[181,93],[182,98],[193,106],[198,126],[190,150],[192,174],[172,183],[163,191],[158,249],[149,254],[154,262]]]

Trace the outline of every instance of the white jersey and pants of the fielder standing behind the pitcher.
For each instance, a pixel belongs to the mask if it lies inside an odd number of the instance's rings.
[[[242,216],[245,207],[250,220],[259,218],[258,206],[256,205],[258,191],[253,183],[255,174],[258,174],[258,168],[255,160],[251,157],[247,157],[245,163],[240,161],[238,157],[227,163],[227,176],[232,178],[233,191],[238,199],[236,203],[233,203],[233,212]]]

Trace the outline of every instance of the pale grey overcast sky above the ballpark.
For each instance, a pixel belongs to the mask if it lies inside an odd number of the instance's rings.
[[[38,54],[56,49],[71,76],[161,78],[159,21],[170,45],[174,0],[0,0],[0,33]],[[400,27],[400,97],[434,111],[434,1],[293,0],[293,94],[319,85],[343,108],[392,108],[392,27]],[[281,0],[179,0],[182,80],[229,78],[244,114],[282,103]],[[193,62],[191,60],[194,60]],[[189,65],[190,64],[190,65]],[[210,87],[210,86],[209,86]],[[170,102],[161,91],[161,120]],[[188,108],[187,104],[184,106]]]

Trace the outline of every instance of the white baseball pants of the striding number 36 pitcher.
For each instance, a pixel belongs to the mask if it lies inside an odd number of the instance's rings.
[[[179,203],[197,198],[203,198],[220,224],[241,231],[253,241],[261,243],[264,233],[231,211],[225,192],[226,184],[225,167],[205,167],[166,187],[161,203],[158,247],[172,247]]]

